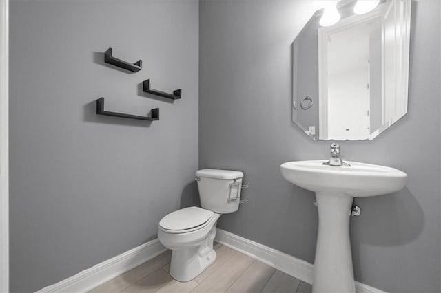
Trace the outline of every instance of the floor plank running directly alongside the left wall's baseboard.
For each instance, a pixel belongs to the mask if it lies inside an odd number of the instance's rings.
[[[170,258],[172,254],[169,251],[164,252],[163,254],[150,259],[150,261],[146,261],[142,265],[133,268],[132,270],[125,272],[117,276],[116,278],[103,283],[99,287],[94,288],[90,292],[120,292],[130,285],[134,284],[136,281],[143,279],[145,276],[152,274],[152,272],[158,270],[163,267],[163,265],[170,263]]]

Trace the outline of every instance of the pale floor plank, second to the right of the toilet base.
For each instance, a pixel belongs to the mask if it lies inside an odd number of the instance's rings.
[[[192,292],[225,292],[253,261],[251,257],[236,252],[232,258],[225,261],[218,270],[210,274]]]

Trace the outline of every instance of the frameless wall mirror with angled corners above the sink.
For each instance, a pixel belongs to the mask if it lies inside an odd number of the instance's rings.
[[[372,140],[407,113],[411,0],[327,3],[294,40],[292,119],[312,140]]]

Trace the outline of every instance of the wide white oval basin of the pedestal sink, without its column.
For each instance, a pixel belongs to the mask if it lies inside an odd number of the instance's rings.
[[[399,191],[407,174],[393,168],[347,162],[351,166],[324,165],[324,160],[287,162],[280,166],[283,177],[309,191],[337,191],[351,197],[367,197]]]

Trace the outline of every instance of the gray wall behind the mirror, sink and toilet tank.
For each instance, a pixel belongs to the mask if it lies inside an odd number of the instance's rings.
[[[279,166],[325,159],[291,122],[291,43],[308,1],[201,1],[199,166],[238,169],[249,202],[219,227],[314,262],[314,194]],[[409,113],[371,142],[341,142],[350,160],[402,169],[404,190],[357,199],[351,219],[356,279],[392,292],[440,291],[440,2],[413,5]]]

